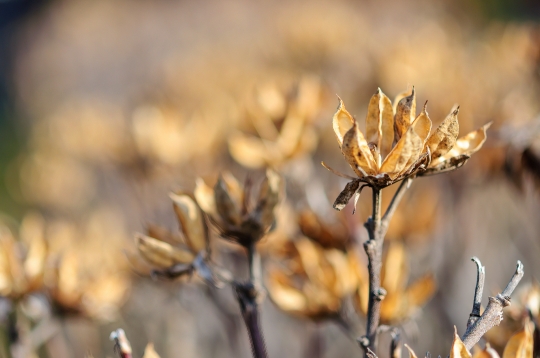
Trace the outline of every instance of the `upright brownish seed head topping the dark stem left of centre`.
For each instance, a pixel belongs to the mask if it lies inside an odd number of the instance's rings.
[[[197,182],[195,198],[218,228],[221,236],[248,247],[259,241],[275,222],[274,209],[282,191],[281,177],[267,170],[255,203],[252,184],[242,189],[234,176],[224,173],[211,189],[203,180]]]

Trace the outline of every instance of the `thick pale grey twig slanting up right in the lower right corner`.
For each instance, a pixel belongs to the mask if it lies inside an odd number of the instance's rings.
[[[523,277],[523,264],[517,262],[516,272],[506,285],[502,293],[489,298],[489,303],[484,313],[467,328],[462,337],[465,347],[470,350],[482,336],[494,326],[498,326],[503,319],[503,308],[510,305],[510,295]]]

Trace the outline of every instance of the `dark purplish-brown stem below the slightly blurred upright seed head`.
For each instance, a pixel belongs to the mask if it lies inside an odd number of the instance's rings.
[[[236,297],[242,312],[242,318],[249,333],[251,352],[254,358],[267,358],[266,344],[259,323],[259,303],[261,295],[261,257],[255,249],[255,243],[247,247],[249,262],[249,282],[235,283]]]

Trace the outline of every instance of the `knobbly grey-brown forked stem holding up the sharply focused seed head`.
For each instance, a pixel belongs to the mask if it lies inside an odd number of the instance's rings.
[[[411,178],[401,182],[386,213],[381,218],[381,189],[373,190],[373,214],[365,223],[368,231],[369,240],[364,243],[364,250],[368,257],[369,273],[369,302],[367,312],[366,335],[359,339],[360,345],[364,348],[365,356],[376,350],[377,329],[379,327],[381,302],[386,296],[386,291],[381,287],[381,268],[384,236],[388,230],[388,225],[392,215],[403,198],[405,192],[410,187]]]

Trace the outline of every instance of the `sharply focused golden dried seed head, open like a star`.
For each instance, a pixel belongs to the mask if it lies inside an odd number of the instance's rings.
[[[488,125],[457,139],[459,108],[450,112],[430,135],[431,119],[427,102],[416,116],[416,95],[400,94],[394,101],[380,90],[371,97],[366,116],[366,135],[360,131],[353,116],[339,99],[333,127],[341,152],[357,178],[343,175],[323,165],[337,175],[353,179],[334,203],[341,210],[353,195],[358,195],[362,183],[384,188],[407,177],[436,174],[461,167],[486,140]]]

